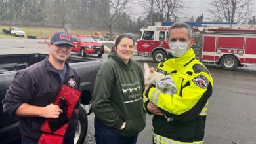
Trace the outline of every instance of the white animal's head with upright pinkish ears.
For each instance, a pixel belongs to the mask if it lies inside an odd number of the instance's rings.
[[[156,72],[153,67],[149,68],[148,63],[144,63],[144,81],[146,86],[150,83],[157,82],[164,77],[165,75]]]

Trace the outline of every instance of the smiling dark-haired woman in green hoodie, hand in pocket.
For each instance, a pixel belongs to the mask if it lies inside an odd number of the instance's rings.
[[[96,76],[92,98],[97,144],[133,144],[146,126],[142,107],[143,71],[131,59],[134,40],[118,35]]]

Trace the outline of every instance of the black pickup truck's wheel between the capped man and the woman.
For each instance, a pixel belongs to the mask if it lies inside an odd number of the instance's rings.
[[[86,110],[83,107],[79,107],[79,121],[77,122],[77,128],[75,130],[75,139],[74,143],[83,144],[85,137],[87,135],[88,129],[88,118]]]

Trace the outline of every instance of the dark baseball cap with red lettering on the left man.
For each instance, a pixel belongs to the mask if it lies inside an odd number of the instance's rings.
[[[67,33],[65,31],[58,31],[54,33],[53,36],[51,37],[50,43],[53,45],[66,43],[74,47],[72,36],[70,35],[70,33]]]

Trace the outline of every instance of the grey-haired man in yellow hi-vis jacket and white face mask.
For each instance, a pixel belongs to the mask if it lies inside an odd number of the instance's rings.
[[[176,92],[165,94],[155,84],[150,84],[144,92],[144,109],[154,114],[154,143],[203,143],[213,77],[195,58],[191,48],[192,30],[188,24],[173,24],[168,43],[171,52],[159,63],[157,71],[171,75]]]

